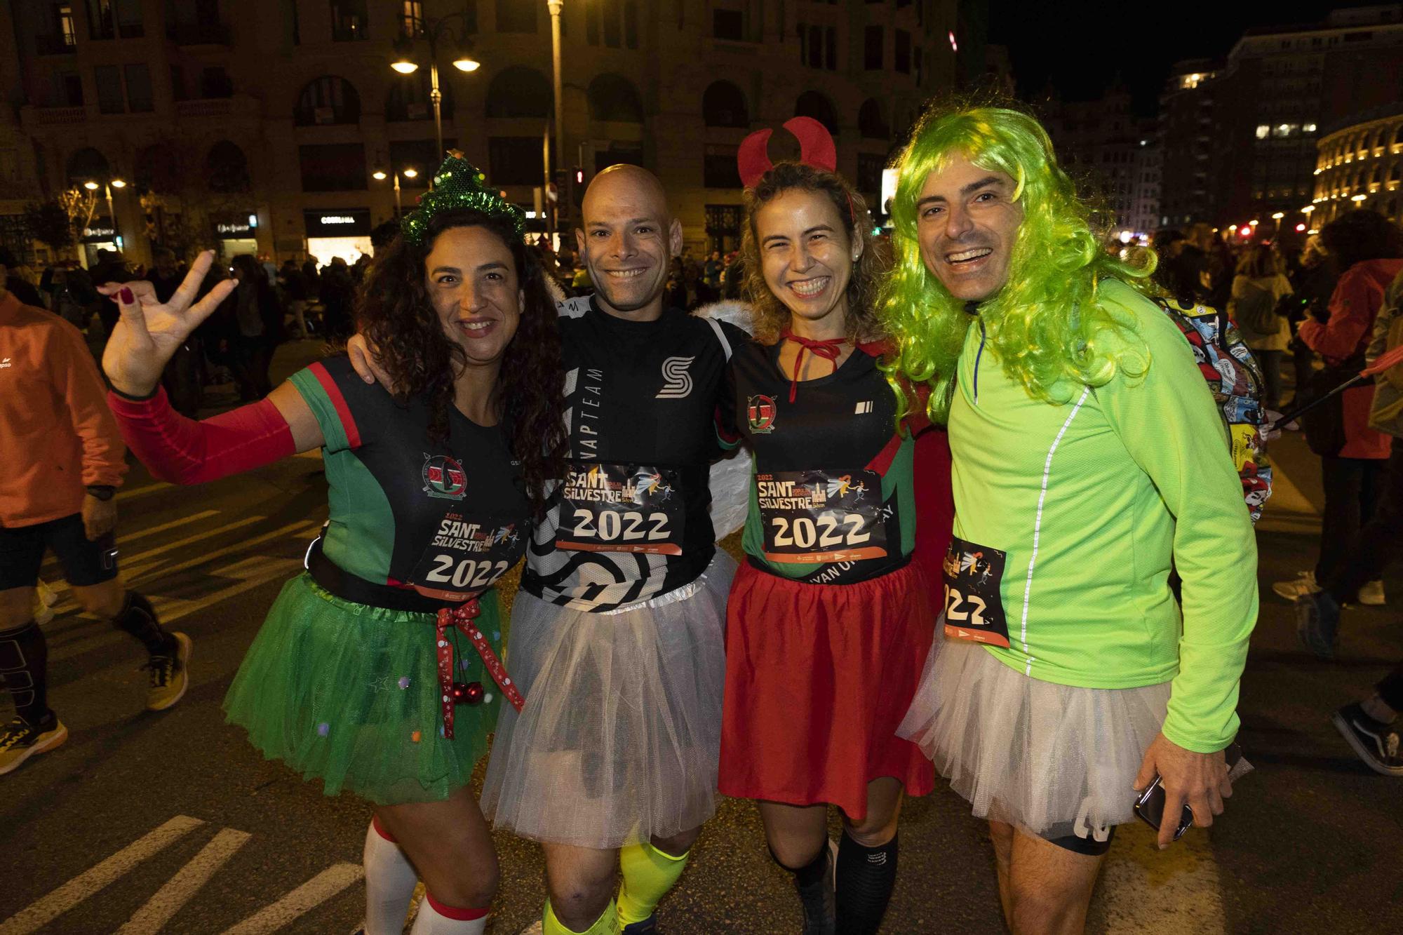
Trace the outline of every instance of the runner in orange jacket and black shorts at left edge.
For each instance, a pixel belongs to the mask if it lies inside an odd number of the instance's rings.
[[[0,288],[0,684],[15,706],[0,726],[0,775],[69,736],[48,706],[48,646],[34,619],[45,550],[83,609],[146,646],[149,710],[170,708],[188,685],[189,637],[161,629],[150,601],[116,574],[114,494],[126,448],[105,394],[79,330]]]

